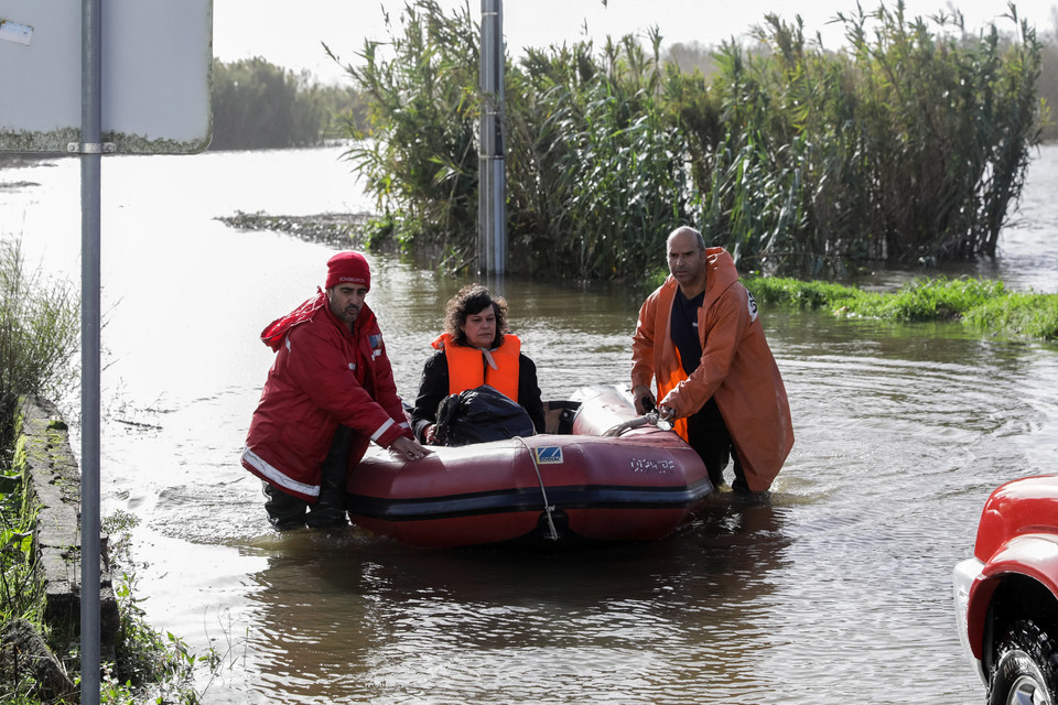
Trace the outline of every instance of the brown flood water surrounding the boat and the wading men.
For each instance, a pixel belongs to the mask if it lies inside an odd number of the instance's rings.
[[[102,511],[141,520],[150,622],[224,657],[204,702],[983,702],[951,570],[995,486],[1056,469],[1054,345],[765,310],[797,435],[767,502],[717,495],[667,540],[559,555],[273,532],[239,465],[272,358],[258,334],[323,283],[332,250],[214,218],[369,209],[339,152],[104,159]],[[1056,192],[1047,148],[1002,257],[975,271],[1058,291]],[[0,234],[77,281],[78,199],[74,159],[2,170]],[[412,400],[466,280],[369,259]],[[643,291],[504,293],[544,398],[628,383]]]

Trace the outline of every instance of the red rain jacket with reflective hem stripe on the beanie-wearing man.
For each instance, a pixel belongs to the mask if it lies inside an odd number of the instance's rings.
[[[276,350],[246,438],[242,466],[309,501],[338,424],[354,430],[349,468],[371,441],[411,436],[375,314],[367,304],[350,334],[319,291],[273,321],[261,340]]]

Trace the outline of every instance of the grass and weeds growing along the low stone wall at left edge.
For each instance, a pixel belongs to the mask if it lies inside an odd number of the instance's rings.
[[[0,240],[0,631],[4,634],[0,703],[4,704],[78,699],[77,625],[68,618],[45,618],[40,552],[34,543],[40,506],[28,499],[33,495],[24,473],[29,460],[21,443],[25,437],[21,402],[26,395],[63,397],[75,388],[79,337],[80,305],[73,285],[28,271],[19,243]],[[133,590],[134,564],[123,539],[133,522],[131,517],[117,517],[104,525],[110,535],[111,565],[121,572],[115,579],[118,633],[112,660],[102,664],[100,702],[198,703],[201,694],[191,684],[193,671],[204,661],[214,666],[216,654],[192,654],[179,638],[160,634],[145,622]]]

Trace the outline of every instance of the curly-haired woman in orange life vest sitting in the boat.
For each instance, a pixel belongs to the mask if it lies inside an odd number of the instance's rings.
[[[521,352],[521,340],[507,326],[507,302],[494,299],[481,284],[467,284],[449,300],[444,330],[432,343],[436,351],[422,368],[411,415],[415,437],[435,443],[438,404],[449,394],[482,384],[518,402],[537,433],[543,433],[537,366]]]

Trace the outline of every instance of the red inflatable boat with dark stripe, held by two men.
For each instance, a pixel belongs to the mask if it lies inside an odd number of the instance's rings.
[[[593,387],[547,406],[553,433],[432,446],[411,463],[373,446],[347,482],[349,518],[424,547],[649,541],[713,491],[698,454],[643,424],[627,393]]]

